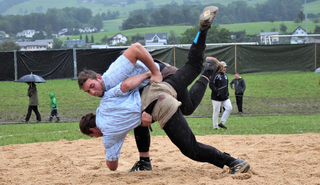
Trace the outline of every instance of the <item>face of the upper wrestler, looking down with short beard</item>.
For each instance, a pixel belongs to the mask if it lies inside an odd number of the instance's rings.
[[[89,78],[83,84],[84,92],[95,96],[95,97],[103,97],[104,91],[106,91],[105,85],[100,75],[97,75],[97,79]]]

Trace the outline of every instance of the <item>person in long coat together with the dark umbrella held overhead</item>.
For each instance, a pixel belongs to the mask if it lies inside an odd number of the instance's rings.
[[[29,88],[28,88],[28,97],[29,97],[29,107],[28,107],[28,113],[26,115],[26,118],[24,120],[22,120],[22,122],[29,122],[32,110],[35,112],[36,114],[36,119],[37,119],[37,123],[41,122],[41,115],[38,111],[38,105],[39,105],[39,100],[38,100],[38,92],[37,92],[37,87],[36,87],[36,83],[42,83],[45,82],[43,78],[41,78],[38,75],[34,75],[34,74],[29,74],[29,75],[25,75],[23,77],[21,77],[18,82],[25,82],[28,84]]]

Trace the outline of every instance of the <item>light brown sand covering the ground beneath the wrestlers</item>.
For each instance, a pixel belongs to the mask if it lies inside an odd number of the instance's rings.
[[[320,185],[320,134],[206,135],[199,142],[251,164],[227,174],[183,156],[167,136],[151,137],[152,172],[127,173],[139,160],[134,137],[125,139],[116,171],[109,171],[102,138],[0,147],[0,184],[315,184]]]

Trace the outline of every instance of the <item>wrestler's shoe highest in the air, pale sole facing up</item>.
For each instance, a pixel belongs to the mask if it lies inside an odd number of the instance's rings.
[[[201,30],[208,30],[211,27],[214,17],[217,15],[219,8],[216,6],[207,6],[203,9],[199,17],[199,24]]]

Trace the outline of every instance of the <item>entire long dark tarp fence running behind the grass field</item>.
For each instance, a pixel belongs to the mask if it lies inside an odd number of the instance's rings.
[[[84,69],[103,74],[125,49],[67,49],[0,52],[0,80],[15,80],[37,74],[44,79],[74,78]],[[150,52],[153,58],[183,66],[188,47],[172,47]],[[236,55],[236,57],[235,57]],[[228,73],[314,71],[320,67],[320,44],[229,45],[207,47],[204,59],[212,56],[228,64]]]

